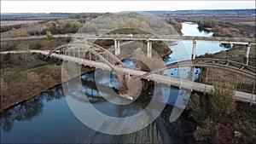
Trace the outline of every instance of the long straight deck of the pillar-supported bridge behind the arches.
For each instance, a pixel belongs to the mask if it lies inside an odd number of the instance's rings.
[[[256,44],[255,38],[244,37],[192,37],[192,36],[179,36],[179,35],[147,35],[147,34],[134,34],[132,36],[125,34],[108,34],[96,35],[81,33],[75,35],[55,35],[54,37],[76,37],[85,39],[117,39],[117,40],[150,40],[150,41],[205,41],[212,43],[233,43],[233,44]],[[1,37],[0,41],[12,41],[21,39],[44,39],[45,36],[32,36],[32,37]]]

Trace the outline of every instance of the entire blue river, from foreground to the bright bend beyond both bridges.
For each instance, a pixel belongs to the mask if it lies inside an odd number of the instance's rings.
[[[212,32],[199,32],[197,24],[189,22],[183,23],[182,32],[186,36],[212,37]],[[175,54],[181,46],[185,46],[188,54],[191,54],[192,42],[179,42],[171,46],[173,53],[166,58],[166,64],[177,61]],[[195,52],[196,55],[205,55],[205,53],[212,54],[224,49],[219,46],[219,43],[197,43]],[[183,60],[189,59],[190,56],[183,57]],[[124,62],[127,66],[136,67],[128,60]],[[166,70],[165,73],[175,78],[187,78],[188,71],[189,67],[185,67]],[[194,79],[198,78],[199,72],[199,69],[195,69]],[[115,78],[110,78],[111,83],[107,85],[104,84],[104,77],[102,78],[103,86],[118,85]],[[148,89],[143,90],[138,101],[119,107],[102,98],[102,95],[108,95],[108,91],[97,90],[95,72],[84,74],[80,79],[83,84],[81,89],[90,101],[83,101],[78,94],[73,95],[73,100],[82,101],[83,105],[91,103],[98,111],[115,118],[130,117],[142,112],[152,100],[152,93],[155,90],[150,89],[149,86]],[[169,89],[168,92],[166,89]],[[184,101],[189,99],[190,91],[163,86],[160,94],[168,101],[164,110],[160,112],[160,116],[152,124],[131,134],[109,135],[92,130],[79,121],[67,104],[61,85],[58,85],[1,114],[1,143],[188,143],[195,125],[186,118],[185,114],[172,123],[169,122],[169,117],[173,106],[181,109],[185,107]],[[84,115],[90,115],[90,112],[84,112]],[[117,125],[115,129],[119,129],[119,126]]]

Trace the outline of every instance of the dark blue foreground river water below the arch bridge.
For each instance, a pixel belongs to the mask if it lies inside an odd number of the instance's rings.
[[[100,96],[102,94],[108,95],[108,92],[98,92],[96,90],[93,82],[94,72],[81,76],[81,79],[83,80],[81,89],[83,89],[84,94],[87,95],[90,101],[84,101],[83,96],[75,93],[72,95],[73,98],[84,102],[84,105],[90,102],[98,111],[112,117],[128,117],[141,112],[148,105],[148,101],[151,100],[148,93],[152,89],[149,88],[143,91],[142,96],[137,101],[120,107]],[[172,101],[176,101],[178,94],[178,90],[173,90],[171,94],[162,95],[172,95],[172,98],[169,99],[169,102],[172,103]],[[148,101],[142,101],[147,99]],[[157,109],[154,111],[157,111]],[[67,106],[67,101],[60,85],[50,89],[49,92],[38,95],[30,101],[3,112],[1,114],[1,142],[145,143],[148,141],[150,143],[159,143],[161,141],[176,141],[183,143],[187,141],[187,138],[184,138],[184,135],[177,134],[176,127],[178,124],[172,125],[169,122],[168,118],[171,111],[172,107],[167,105],[164,112],[161,112],[161,115],[152,124],[135,133],[128,135],[102,134],[79,122]],[[84,112],[84,114],[86,113],[90,112]],[[187,121],[186,123],[189,122]],[[191,131],[193,128],[190,127],[189,129]],[[189,135],[189,130],[187,130],[187,133]],[[148,139],[145,139],[145,136]]]

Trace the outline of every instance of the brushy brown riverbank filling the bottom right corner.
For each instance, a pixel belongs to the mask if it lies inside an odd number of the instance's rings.
[[[253,143],[256,140],[255,106],[235,102],[223,84],[209,95],[191,95],[187,110],[196,121],[196,143]],[[194,142],[193,142],[194,143]]]

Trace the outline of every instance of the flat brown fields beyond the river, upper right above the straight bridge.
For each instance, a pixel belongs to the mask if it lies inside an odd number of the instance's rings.
[[[173,14],[172,17],[180,22],[208,21],[215,26],[204,26],[213,28],[215,36],[228,37],[255,37],[255,16],[253,14]]]

